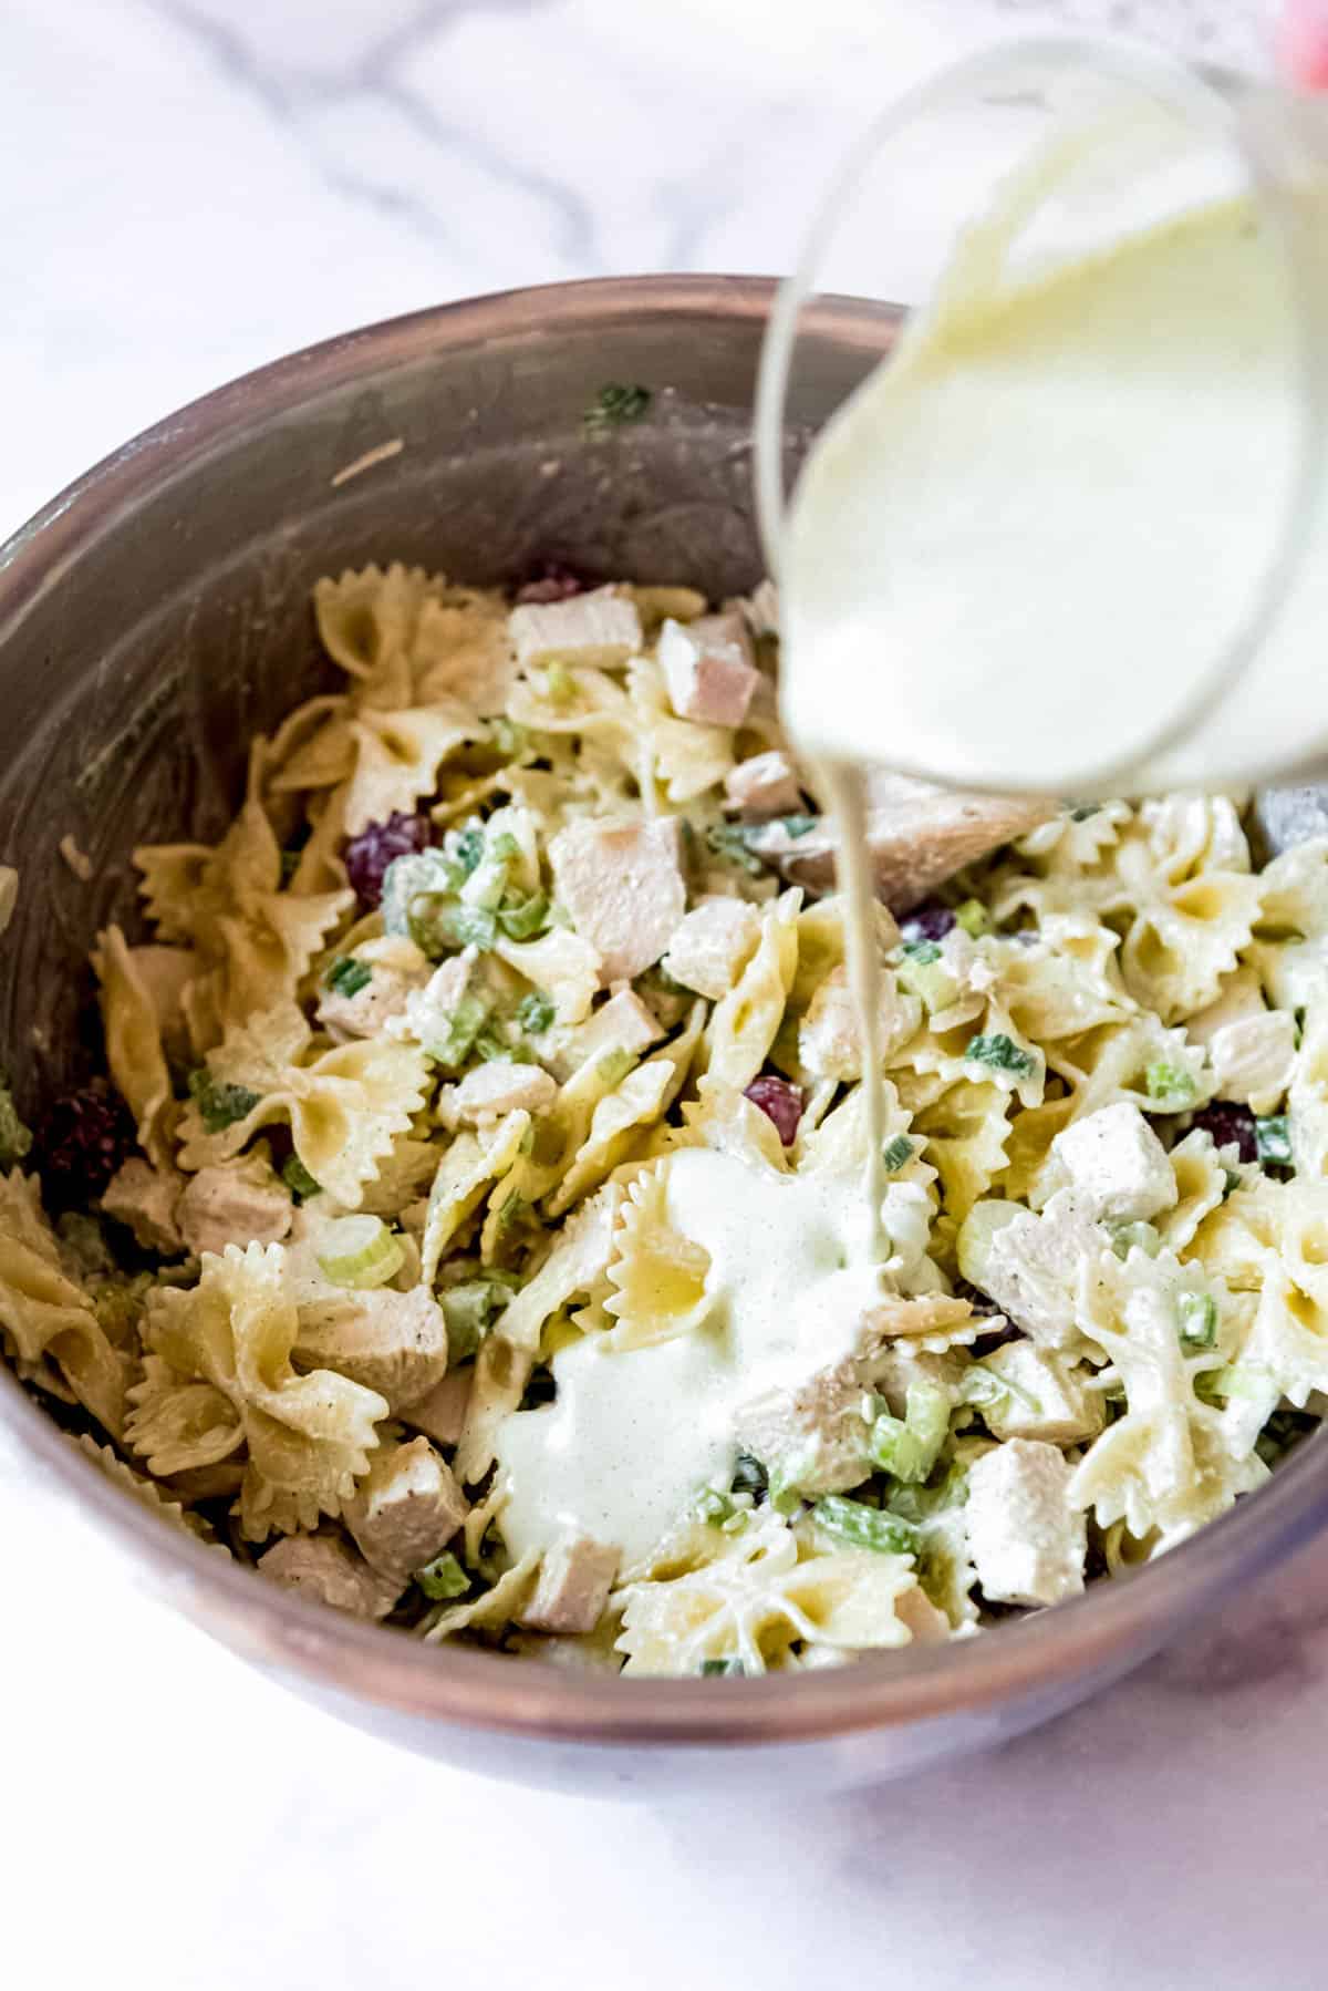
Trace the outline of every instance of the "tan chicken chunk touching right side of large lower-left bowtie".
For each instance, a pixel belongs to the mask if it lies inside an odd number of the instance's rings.
[[[321,1292],[299,1300],[295,1354],[376,1390],[392,1416],[424,1398],[448,1366],[448,1322],[426,1286]]]

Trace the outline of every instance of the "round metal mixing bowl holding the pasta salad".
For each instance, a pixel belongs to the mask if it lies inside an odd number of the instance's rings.
[[[317,689],[309,587],[366,559],[498,581],[540,557],[729,593],[759,577],[749,420],[771,287],[559,285],[398,319],[249,374],[127,444],[0,552],[0,856],[22,890],[0,1053],[20,1103],[92,1067],[92,936],[133,914],[129,848],[215,836],[245,741]],[[806,321],[788,434],[888,346],[898,313]],[[605,382],[649,418],[587,434]],[[366,452],[402,448],[338,478]],[[58,856],[74,834],[92,884]],[[422,1647],[315,1609],[163,1527],[0,1364],[0,1426],[181,1611],[362,1728],[579,1790],[786,1794],[1009,1738],[1155,1651],[1328,1515],[1312,1441],[1193,1543],[1055,1611],[942,1651],[769,1680],[605,1680]]]

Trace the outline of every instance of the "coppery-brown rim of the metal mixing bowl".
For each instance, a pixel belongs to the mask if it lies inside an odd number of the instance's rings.
[[[450,344],[484,342],[498,331],[512,338],[514,325],[528,327],[532,344],[567,323],[607,329],[699,309],[759,325],[773,289],[757,277],[631,277],[506,291],[346,332],[245,374],[115,450],[0,548],[0,645],[34,595],[60,585],[80,550],[143,490],[205,458],[223,436],[354,380],[368,362],[426,356],[440,332]],[[872,352],[884,317],[896,313],[828,297],[810,307],[808,323],[822,321],[836,338]],[[1328,1445],[1310,1441],[1270,1485],[1145,1569],[976,1639],[741,1682],[611,1680],[474,1649],[426,1647],[307,1603],[165,1527],[70,1443],[12,1372],[4,1370],[0,1384],[0,1424],[20,1453],[149,1563],[167,1593],[187,1593],[193,1615],[237,1651],[348,1698],[514,1736],[731,1748],[842,1738],[956,1714],[980,1718],[986,1710],[996,1716],[1009,1700],[1055,1696],[1059,1684],[1085,1674],[1123,1670],[1328,1523]]]

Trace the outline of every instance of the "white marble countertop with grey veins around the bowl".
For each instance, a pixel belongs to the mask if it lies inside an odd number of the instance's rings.
[[[1260,58],[1232,4],[1111,6]],[[1027,0],[6,0],[0,528],[191,394],[442,297],[778,269],[846,131]],[[1217,34],[1213,32],[1217,30]],[[418,1764],[125,1589],[0,1455],[6,1981],[1322,1981],[1328,1545],[997,1756],[784,1816]],[[514,1951],[502,1929],[524,1917]]]

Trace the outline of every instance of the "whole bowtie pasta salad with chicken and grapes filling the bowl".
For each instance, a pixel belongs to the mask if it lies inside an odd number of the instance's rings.
[[[4,1352],[165,1525],[428,1643],[735,1676],[1053,1605],[1314,1428],[1328,836],[886,782],[868,1264],[771,589],[398,565],[315,617],[342,689],[215,848],[135,852],[104,1075],[36,1139],[0,1091]]]

